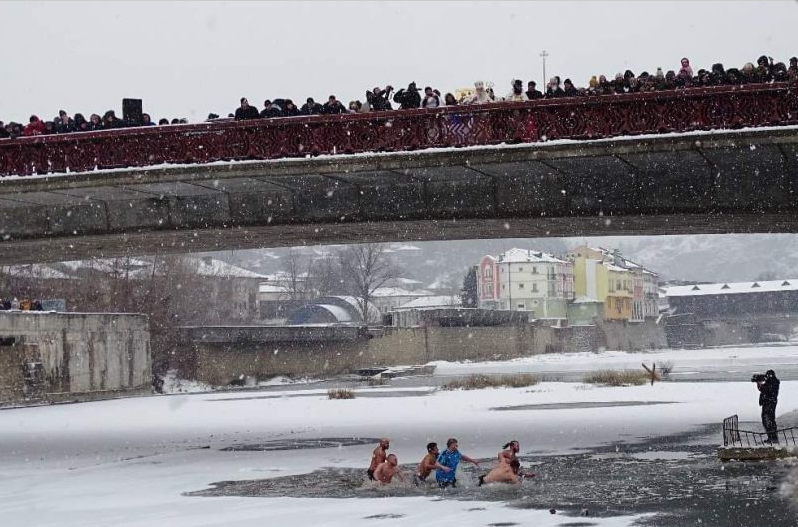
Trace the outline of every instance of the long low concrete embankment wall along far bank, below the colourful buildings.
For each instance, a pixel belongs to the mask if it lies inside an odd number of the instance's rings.
[[[436,360],[508,360],[542,353],[595,352],[600,346],[629,351],[659,348],[664,347],[665,333],[653,321],[565,327],[538,321],[506,327],[387,327],[381,337],[371,339],[214,340],[188,338],[172,366],[184,377],[223,385],[241,375],[259,379],[332,376],[371,366]]]

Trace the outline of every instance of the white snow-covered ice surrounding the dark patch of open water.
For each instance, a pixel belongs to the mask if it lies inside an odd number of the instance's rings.
[[[783,393],[796,387],[798,381],[782,383]],[[738,413],[741,421],[759,417],[754,386],[739,382],[622,388],[546,382],[530,388],[458,392],[419,388],[410,396],[407,389],[402,389],[405,395],[401,397],[366,396],[375,392],[386,395],[391,390],[363,388],[358,390],[361,397],[352,400],[328,400],[323,390],[272,389],[0,411],[2,524],[182,527],[260,521],[267,525],[350,526],[374,525],[377,520],[369,516],[395,515],[380,517],[379,525],[559,525],[568,521],[560,513],[517,509],[496,501],[390,495],[370,499],[207,498],[182,493],[205,489],[216,481],[305,474],[321,467],[365,468],[373,449],[373,445],[360,445],[220,450],[236,444],[387,436],[400,463],[410,464],[422,457],[428,441],[443,443],[455,436],[463,452],[488,460],[513,438],[521,441],[522,454],[564,453],[608,444],[622,447],[651,435],[719,423],[733,413]],[[672,404],[491,410],[616,401]],[[785,397],[779,413],[795,409],[798,404]],[[534,492],[534,483],[526,485]],[[615,526],[630,525],[634,519],[591,521]]]

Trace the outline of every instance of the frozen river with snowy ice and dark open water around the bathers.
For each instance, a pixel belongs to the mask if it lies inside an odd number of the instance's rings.
[[[703,359],[736,362],[746,376],[798,354],[795,347],[708,351]],[[674,368],[698,366],[679,353],[670,355]],[[546,359],[438,371],[640,362],[618,353]],[[428,379],[427,386],[416,379],[416,387],[361,387],[352,400],[306,386],[3,410],[0,518],[29,526],[721,526],[754,524],[764,514],[769,525],[795,525],[781,493],[786,463],[716,458],[723,417],[739,414],[758,429],[747,379],[617,388],[557,380],[457,392]],[[780,415],[798,409],[796,389],[798,381],[782,383]],[[477,488],[478,471],[468,466],[454,492],[374,488],[363,471],[383,436],[408,472],[429,441],[457,437],[489,468],[501,445],[518,439],[536,477],[520,487]]]

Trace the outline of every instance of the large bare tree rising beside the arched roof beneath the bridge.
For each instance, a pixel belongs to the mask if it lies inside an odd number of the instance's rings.
[[[338,265],[343,280],[358,297],[360,312],[365,322],[369,320],[369,300],[374,290],[397,277],[397,270],[385,251],[377,243],[351,245],[338,252]]]

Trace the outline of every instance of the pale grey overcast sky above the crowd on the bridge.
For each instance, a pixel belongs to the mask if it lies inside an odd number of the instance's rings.
[[[375,85],[578,86],[593,74],[798,54],[798,2],[2,2],[0,120],[226,115],[241,96],[345,103]]]

